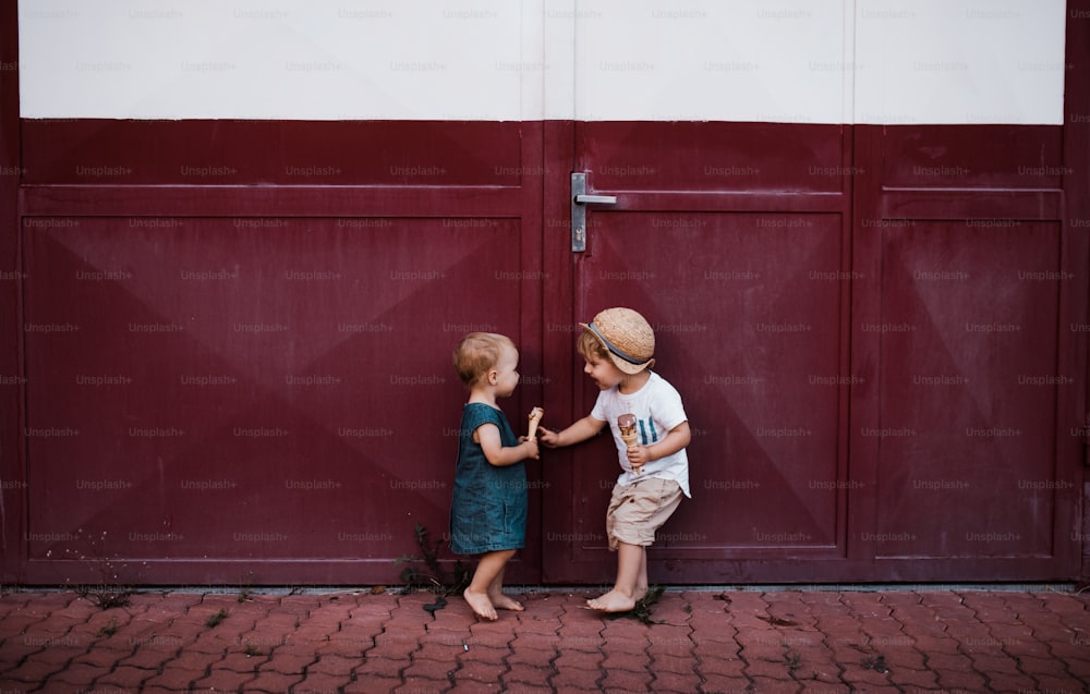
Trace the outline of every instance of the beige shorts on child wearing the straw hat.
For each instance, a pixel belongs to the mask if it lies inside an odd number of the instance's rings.
[[[614,485],[606,511],[609,549],[618,543],[646,547],[655,543],[655,531],[663,526],[681,503],[681,487],[673,479],[650,477],[630,485]]]

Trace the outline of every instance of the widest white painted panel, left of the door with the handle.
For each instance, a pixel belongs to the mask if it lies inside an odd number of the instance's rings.
[[[505,0],[23,0],[22,114],[533,120],[541,15]]]

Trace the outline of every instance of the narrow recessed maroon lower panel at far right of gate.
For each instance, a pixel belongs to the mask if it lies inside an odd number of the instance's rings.
[[[1049,557],[1057,496],[1056,223],[883,231],[880,557]],[[1064,279],[1066,278],[1066,279]],[[1069,397],[1069,395],[1068,395]]]

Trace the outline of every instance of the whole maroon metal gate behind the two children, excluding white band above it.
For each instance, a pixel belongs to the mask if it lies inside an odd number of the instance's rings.
[[[1063,125],[21,121],[0,70],[3,580],[392,582],[446,528],[457,339],[511,334],[509,417],[562,426],[614,304],[694,431],[653,580],[1080,577],[1074,12]],[[617,196],[584,252],[572,171]],[[611,458],[530,465],[510,581],[611,579]]]

